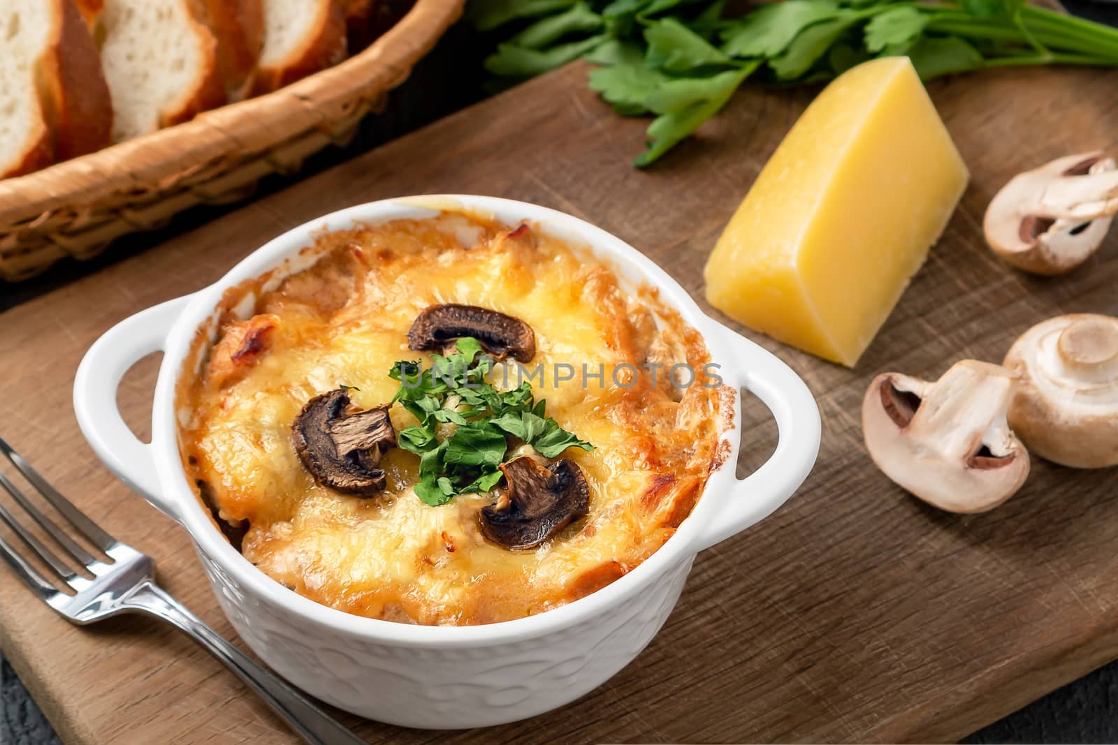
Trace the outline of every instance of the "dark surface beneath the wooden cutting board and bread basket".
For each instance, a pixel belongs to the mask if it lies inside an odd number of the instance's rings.
[[[1067,0],[1072,12],[1118,26],[1118,0]],[[380,143],[444,116],[482,95],[480,80],[464,71],[477,70],[482,45],[473,44],[461,26],[439,44],[407,83],[392,96],[389,109],[370,117],[353,144],[331,149],[307,162],[314,173],[352,157]],[[454,85],[447,85],[454,80]],[[437,92],[437,93],[433,93]],[[285,185],[268,179],[260,193]],[[177,219],[165,230],[135,236],[89,262],[64,261],[42,278],[22,285],[0,286],[0,312],[45,292],[60,287],[102,266],[157,245],[191,226],[210,220],[229,208],[199,208]],[[75,633],[79,631],[75,630]],[[1001,722],[978,730],[964,742],[985,743],[1118,743],[1118,662],[1112,662],[1068,685]],[[56,745],[59,741],[19,678],[0,657],[0,745]]]

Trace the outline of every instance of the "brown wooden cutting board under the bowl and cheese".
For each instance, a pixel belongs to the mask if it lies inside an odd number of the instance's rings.
[[[571,212],[645,251],[704,304],[708,251],[814,92],[750,86],[699,140],[642,172],[628,161],[645,123],[614,116],[585,77],[581,66],[561,69],[0,315],[0,432],[110,532],[153,555],[168,589],[231,636],[187,536],[82,439],[70,384],[83,352],[121,318],[207,285],[295,225],[421,192]],[[1036,462],[996,512],[948,515],[878,472],[859,428],[878,372],[935,378],[959,357],[1001,360],[1049,316],[1118,314],[1118,230],[1087,267],[1039,279],[993,258],[980,229],[1015,172],[1067,153],[1118,152],[1118,75],[991,71],[936,83],[931,94],[973,181],[858,370],[746,332],[818,398],[823,448],[799,494],[701,554],[652,646],[576,704],[480,732],[348,723],[372,743],[953,741],[1118,657],[1118,471]],[[154,370],[142,364],[120,395],[140,430]],[[746,422],[739,469],[774,447],[756,401]],[[140,618],[73,628],[7,570],[0,640],[69,743],[294,741],[186,637]]]

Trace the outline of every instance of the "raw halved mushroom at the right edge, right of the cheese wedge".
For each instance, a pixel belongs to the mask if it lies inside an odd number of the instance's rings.
[[[1070,271],[1102,243],[1118,213],[1118,170],[1101,152],[1058,157],[1020,173],[991,200],[986,242],[1007,264],[1040,275]]]

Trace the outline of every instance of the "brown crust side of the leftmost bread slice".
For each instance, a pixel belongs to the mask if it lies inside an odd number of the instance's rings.
[[[54,2],[57,34],[39,59],[37,78],[57,162],[110,144],[113,105],[101,56],[77,7],[70,0]]]

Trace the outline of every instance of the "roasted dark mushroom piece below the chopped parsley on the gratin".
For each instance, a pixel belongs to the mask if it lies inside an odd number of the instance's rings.
[[[532,548],[552,537],[590,508],[590,488],[569,458],[540,466],[524,456],[502,464],[509,488],[482,507],[482,533],[509,548]]]

